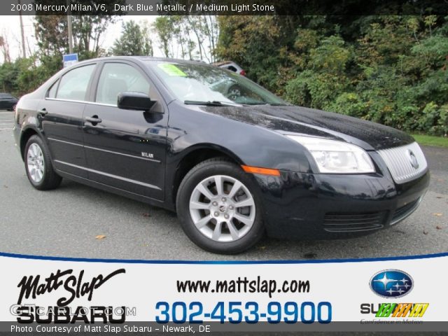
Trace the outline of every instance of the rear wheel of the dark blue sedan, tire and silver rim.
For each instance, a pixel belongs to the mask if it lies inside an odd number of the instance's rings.
[[[30,137],[25,146],[25,170],[29,182],[37,190],[57,188],[62,181],[52,167],[48,147],[37,135]]]

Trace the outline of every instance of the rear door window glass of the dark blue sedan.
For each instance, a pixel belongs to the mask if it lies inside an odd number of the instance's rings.
[[[62,76],[56,98],[69,100],[85,100],[87,86],[94,70],[95,64],[80,66]]]

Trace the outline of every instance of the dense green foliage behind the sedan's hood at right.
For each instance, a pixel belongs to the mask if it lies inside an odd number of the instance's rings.
[[[220,17],[217,49],[289,102],[448,133],[448,17]]]

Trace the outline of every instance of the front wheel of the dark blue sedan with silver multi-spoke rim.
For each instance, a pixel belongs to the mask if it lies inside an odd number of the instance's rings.
[[[255,182],[223,158],[191,169],[179,186],[176,204],[184,232],[207,251],[240,253],[265,232]]]

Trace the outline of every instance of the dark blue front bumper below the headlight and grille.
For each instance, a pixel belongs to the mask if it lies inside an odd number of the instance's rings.
[[[255,179],[269,237],[332,239],[366,235],[402,221],[419,206],[430,174],[402,184],[390,174],[281,172]]]

